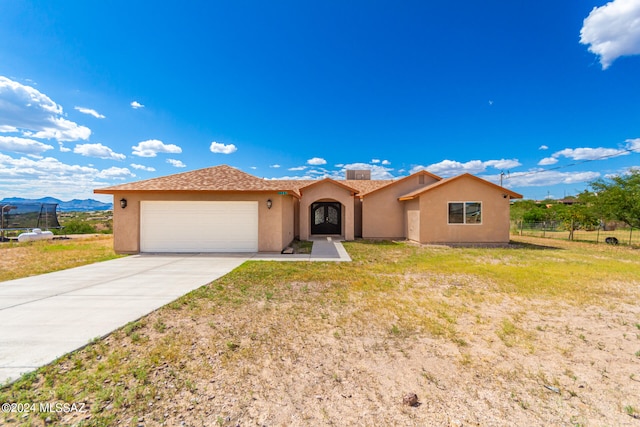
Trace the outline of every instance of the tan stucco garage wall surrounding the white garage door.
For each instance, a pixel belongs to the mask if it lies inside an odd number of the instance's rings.
[[[120,208],[120,199],[127,199],[126,209]],[[267,199],[273,205],[267,208]],[[140,252],[140,202],[157,201],[257,201],[258,202],[258,250],[279,252],[295,234],[292,196],[277,193],[231,193],[231,192],[135,192],[115,193],[113,212],[113,246],[117,253]],[[167,218],[171,226],[171,218]]]

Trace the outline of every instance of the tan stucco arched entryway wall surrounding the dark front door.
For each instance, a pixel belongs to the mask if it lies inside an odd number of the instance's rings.
[[[320,182],[302,189],[300,240],[309,240],[311,234],[311,204],[322,201],[336,201],[342,204],[342,236],[345,240],[353,240],[355,238],[353,194],[331,182]]]

